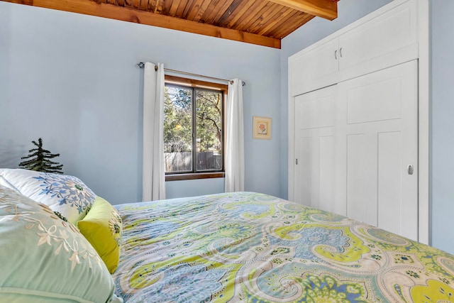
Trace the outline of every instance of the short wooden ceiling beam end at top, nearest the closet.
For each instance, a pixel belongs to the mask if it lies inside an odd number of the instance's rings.
[[[270,0],[271,2],[297,9],[328,20],[338,18],[338,0]]]

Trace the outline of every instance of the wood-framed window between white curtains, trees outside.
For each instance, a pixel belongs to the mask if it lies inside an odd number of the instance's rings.
[[[227,85],[165,76],[166,181],[223,177]]]

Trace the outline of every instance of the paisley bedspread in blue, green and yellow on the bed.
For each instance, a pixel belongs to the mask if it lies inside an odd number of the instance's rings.
[[[454,302],[454,256],[251,192],[117,206],[125,302]]]

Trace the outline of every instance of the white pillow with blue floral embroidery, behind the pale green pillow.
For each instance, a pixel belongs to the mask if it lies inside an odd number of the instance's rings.
[[[84,218],[96,194],[77,177],[23,169],[0,169],[0,185],[15,189],[65,216],[72,224]]]

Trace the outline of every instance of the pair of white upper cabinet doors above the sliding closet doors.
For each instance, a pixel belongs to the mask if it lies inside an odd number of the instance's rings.
[[[289,57],[291,97],[416,59],[417,3],[401,2]]]

